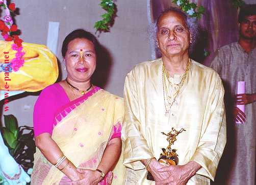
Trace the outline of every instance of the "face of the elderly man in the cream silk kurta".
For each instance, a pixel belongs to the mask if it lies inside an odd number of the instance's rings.
[[[188,53],[191,41],[184,18],[175,12],[165,13],[158,22],[157,40],[164,56]]]

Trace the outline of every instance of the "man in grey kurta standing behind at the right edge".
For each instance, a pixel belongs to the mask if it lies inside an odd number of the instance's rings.
[[[239,13],[239,41],[223,46],[211,63],[224,84],[228,148],[224,168],[226,184],[254,185],[256,138],[256,5]],[[245,81],[245,94],[236,95],[237,82]],[[243,113],[236,104],[245,105]],[[236,124],[236,121],[243,124]],[[223,161],[224,162],[224,161]],[[225,170],[222,168],[222,172]],[[222,182],[223,182],[222,178]]]

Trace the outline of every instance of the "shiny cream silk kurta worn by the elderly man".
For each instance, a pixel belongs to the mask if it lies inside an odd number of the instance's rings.
[[[172,127],[186,129],[172,145],[177,149],[179,165],[195,161],[202,166],[187,184],[210,184],[226,143],[221,79],[212,69],[192,60],[188,77],[165,116],[162,64],[161,58],[141,63],[125,79],[124,184],[155,184],[146,179],[140,160],[159,159],[161,148],[168,146],[167,136],[161,132],[168,133]],[[171,91],[172,85],[166,82]]]

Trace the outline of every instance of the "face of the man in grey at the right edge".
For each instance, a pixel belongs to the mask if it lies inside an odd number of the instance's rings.
[[[256,15],[246,16],[240,23],[240,37],[244,39],[256,38]]]

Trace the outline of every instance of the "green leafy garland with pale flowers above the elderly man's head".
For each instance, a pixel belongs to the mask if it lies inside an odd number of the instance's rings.
[[[203,6],[197,7],[195,3],[190,3],[189,0],[172,0],[172,3],[175,3],[191,17],[200,18],[204,13]]]

